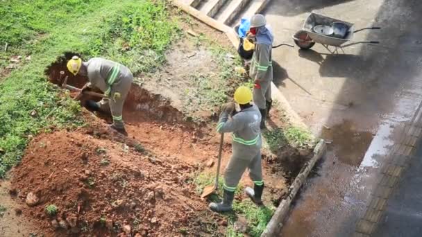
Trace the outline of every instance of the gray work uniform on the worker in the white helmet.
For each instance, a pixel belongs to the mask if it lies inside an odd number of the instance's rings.
[[[249,76],[260,80],[261,88],[253,88],[253,103],[260,109],[265,109],[265,100],[271,101],[271,82],[273,81],[273,66],[271,62],[272,46],[255,44]]]

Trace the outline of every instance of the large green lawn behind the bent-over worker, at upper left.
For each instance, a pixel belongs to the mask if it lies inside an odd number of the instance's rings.
[[[16,0],[0,1],[0,72],[11,55],[31,55],[0,78],[0,177],[22,159],[29,135],[83,125],[80,107],[59,96],[44,69],[65,52],[85,60],[101,56],[133,73],[153,71],[178,36],[167,1]],[[3,46],[1,46],[3,48]]]

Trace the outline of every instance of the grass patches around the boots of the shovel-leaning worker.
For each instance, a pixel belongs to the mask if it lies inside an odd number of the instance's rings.
[[[203,188],[208,185],[212,185],[215,182],[215,176],[210,173],[199,173],[193,179],[194,184],[196,184],[196,193],[201,194]],[[210,195],[208,200],[210,202],[220,202],[223,195],[223,177],[219,177],[219,189],[217,193]],[[238,185],[235,191],[235,195],[242,195],[243,186]],[[223,216],[226,216],[228,220],[228,228],[226,230],[226,236],[242,236],[242,234],[237,233],[233,229],[233,225],[237,220],[237,216],[242,215],[248,221],[248,228],[246,234],[249,236],[260,236],[262,231],[267,227],[271,216],[276,207],[273,207],[272,204],[270,207],[258,207],[251,200],[242,200],[233,202],[233,212],[223,213]]]

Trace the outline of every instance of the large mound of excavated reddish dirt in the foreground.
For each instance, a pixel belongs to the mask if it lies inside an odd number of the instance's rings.
[[[41,134],[13,171],[17,197],[25,202],[32,192],[39,198],[23,211],[40,229],[51,229],[47,236],[175,236],[195,229],[196,213],[206,206],[187,183],[194,166],[88,133]],[[52,204],[58,211],[49,216],[45,207]]]

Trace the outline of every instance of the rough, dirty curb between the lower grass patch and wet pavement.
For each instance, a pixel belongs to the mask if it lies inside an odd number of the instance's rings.
[[[307,161],[307,164],[303,166],[301,172],[298,174],[296,179],[294,179],[292,185],[289,186],[289,195],[287,196],[287,198],[283,199],[280,202],[280,205],[277,207],[276,212],[274,212],[273,217],[267,225],[267,228],[264,230],[264,232],[262,232],[261,237],[276,236],[280,233],[282,223],[287,214],[289,213],[290,204],[292,204],[292,201],[294,200],[299,189],[307,179],[307,176],[310,174],[312,168],[314,168],[316,162],[321,159],[326,150],[326,142],[321,139],[314,148],[314,157]]]

